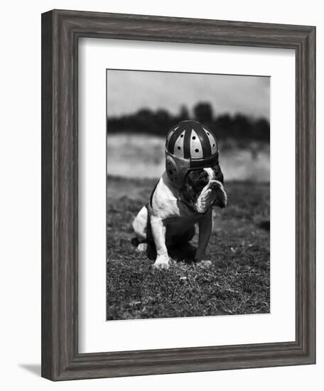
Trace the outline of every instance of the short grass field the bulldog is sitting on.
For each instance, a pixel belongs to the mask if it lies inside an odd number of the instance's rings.
[[[194,264],[188,248],[160,271],[153,254],[131,245],[131,222],[155,183],[108,177],[107,320],[269,313],[269,184],[225,183],[227,208],[215,209],[207,251],[212,266]]]

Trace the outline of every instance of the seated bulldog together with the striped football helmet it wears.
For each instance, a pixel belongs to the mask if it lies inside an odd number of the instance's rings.
[[[133,222],[137,250],[156,248],[154,267],[168,269],[168,248],[188,243],[199,226],[195,262],[210,264],[206,248],[212,208],[225,208],[227,194],[215,134],[197,121],[182,121],[166,136],[166,171]]]

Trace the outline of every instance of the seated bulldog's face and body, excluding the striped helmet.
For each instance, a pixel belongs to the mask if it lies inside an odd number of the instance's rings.
[[[168,248],[189,242],[199,227],[195,262],[209,265],[206,249],[212,232],[212,208],[225,208],[227,194],[224,179],[217,163],[206,168],[190,169],[181,186],[175,186],[166,171],[151,193],[147,205],[133,222],[138,251],[146,251],[148,244],[156,247],[153,267],[168,269]]]

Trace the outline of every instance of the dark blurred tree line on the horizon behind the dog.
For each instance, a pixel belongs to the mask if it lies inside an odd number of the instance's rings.
[[[216,116],[209,102],[199,102],[193,107],[193,114],[187,107],[180,108],[178,114],[171,114],[166,109],[140,109],[134,114],[109,117],[107,131],[128,133],[149,133],[156,136],[166,136],[171,127],[185,119],[195,119],[212,130],[217,139],[235,139],[243,144],[249,141],[269,143],[270,124],[267,119],[247,117],[244,114],[222,114]]]

